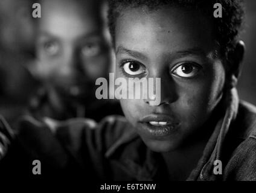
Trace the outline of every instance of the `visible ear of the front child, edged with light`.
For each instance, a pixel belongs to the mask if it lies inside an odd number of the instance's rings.
[[[244,54],[245,43],[242,40],[239,40],[235,44],[234,50],[228,53],[228,65],[230,68],[227,71],[226,87],[229,89],[237,86],[238,78],[242,72]]]

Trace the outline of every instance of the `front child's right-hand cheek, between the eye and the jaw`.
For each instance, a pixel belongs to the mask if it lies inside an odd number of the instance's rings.
[[[217,68],[205,77],[179,88],[181,96],[176,103],[176,112],[185,120],[186,127],[198,128],[204,124],[222,98],[224,71]]]

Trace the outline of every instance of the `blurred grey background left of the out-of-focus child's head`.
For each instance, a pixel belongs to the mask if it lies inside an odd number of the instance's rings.
[[[0,0],[0,114],[12,121],[27,104],[36,81],[27,71],[34,60],[32,0]]]

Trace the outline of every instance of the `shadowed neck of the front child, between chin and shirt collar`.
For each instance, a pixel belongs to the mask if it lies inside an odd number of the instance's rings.
[[[202,127],[193,133],[188,140],[177,150],[162,153],[164,162],[168,168],[169,180],[186,180],[191,171],[196,168],[203,150],[213,134],[216,124],[225,111],[220,106],[210,116],[210,119]]]

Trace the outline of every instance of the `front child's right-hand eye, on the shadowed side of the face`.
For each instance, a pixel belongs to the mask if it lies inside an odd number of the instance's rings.
[[[195,77],[202,67],[194,63],[182,63],[174,68],[171,73],[178,77],[192,78]]]

